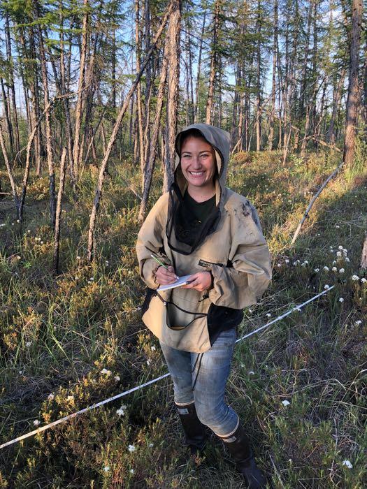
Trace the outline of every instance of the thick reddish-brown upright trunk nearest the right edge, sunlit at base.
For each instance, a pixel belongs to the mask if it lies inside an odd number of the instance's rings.
[[[347,118],[345,122],[345,139],[343,161],[352,165],[354,157],[354,144],[357,133],[357,120],[359,112],[358,64],[359,43],[361,40],[362,0],[353,0],[352,3],[352,40],[350,43],[350,75],[347,98]]]

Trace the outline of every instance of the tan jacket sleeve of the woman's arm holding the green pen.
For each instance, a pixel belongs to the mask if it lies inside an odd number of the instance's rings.
[[[145,284],[150,289],[157,289],[158,284],[154,279],[154,272],[159,267],[157,261],[150,254],[159,256],[162,263],[170,265],[166,254],[161,253],[163,247],[163,236],[166,226],[167,194],[161,196],[153,205],[141,230],[138,232],[136,242],[136,254],[139,262],[139,273]]]

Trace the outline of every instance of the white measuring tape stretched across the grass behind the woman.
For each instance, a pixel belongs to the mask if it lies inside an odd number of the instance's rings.
[[[238,340],[236,340],[236,343],[238,343],[242,340],[245,340],[245,338],[248,338],[248,337],[254,335],[255,333],[259,333],[259,331],[263,330],[264,328],[268,328],[268,326],[271,326],[271,324],[276,323],[277,321],[280,321],[280,319],[283,319],[286,316],[289,316],[289,314],[292,314],[292,312],[299,311],[299,309],[301,309],[301,307],[305,306],[309,302],[312,302],[312,300],[317,299],[321,295],[328,293],[333,288],[334,288],[334,286],[331,286],[331,287],[329,287],[329,289],[326,289],[325,291],[320,292],[319,294],[317,294],[314,297],[306,300],[305,302],[302,302],[302,304],[300,304],[296,307],[292,307],[292,309],[290,309],[288,312],[285,312],[285,314],[278,316],[277,318],[273,319],[273,321],[270,321],[270,322],[264,324],[264,326],[261,326],[260,328],[257,328],[256,330],[251,331],[251,333],[248,333],[247,335],[240,337]],[[64,423],[64,421],[68,421],[71,418],[75,418],[75,416],[78,416],[78,414],[82,414],[82,413],[85,413],[87,411],[91,411],[92,409],[96,409],[96,407],[103,406],[103,404],[107,404],[108,402],[119,399],[120,397],[124,397],[124,395],[131,394],[132,392],[138,391],[139,389],[142,389],[143,387],[149,386],[150,384],[154,384],[154,382],[157,382],[161,379],[164,379],[165,377],[168,377],[169,375],[171,375],[171,374],[168,372],[168,374],[164,374],[164,375],[161,375],[160,377],[156,377],[155,379],[152,379],[148,382],[145,382],[145,384],[140,384],[139,386],[133,387],[133,388],[129,389],[129,391],[124,391],[120,394],[114,395],[113,397],[108,397],[108,399],[106,399],[104,401],[97,402],[96,404],[92,404],[92,406],[88,406],[88,407],[85,407],[84,409],[80,409],[80,411],[76,411],[73,414],[69,414],[68,416],[64,416],[64,418],[57,419],[57,421],[53,421],[52,423],[49,423],[48,425],[41,426],[41,428],[37,428],[36,430],[30,431],[29,433],[26,433],[25,435],[22,435],[21,437],[17,437],[13,440],[6,441],[6,443],[3,443],[2,445],[0,445],[0,449],[5,448],[6,446],[9,446],[9,445],[13,445],[14,443],[17,443],[17,441],[21,441],[21,440],[24,440],[26,438],[33,437],[37,433],[41,433],[45,430],[48,430],[48,428],[52,428],[52,426],[59,425],[60,423]]]

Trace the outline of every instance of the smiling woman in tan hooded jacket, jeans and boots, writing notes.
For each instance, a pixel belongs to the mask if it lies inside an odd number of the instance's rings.
[[[271,278],[268,247],[254,207],[225,186],[229,134],[193,124],[178,134],[175,149],[173,185],[138,233],[141,277],[149,287],[143,321],[159,338],[192,453],[203,450],[208,426],[226,444],[247,487],[264,488],[224,391],[242,309],[257,302]],[[189,283],[157,291],[176,275],[189,275]]]

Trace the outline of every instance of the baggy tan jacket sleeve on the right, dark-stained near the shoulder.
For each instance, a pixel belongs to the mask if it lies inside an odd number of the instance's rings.
[[[232,267],[213,265],[209,298],[215,305],[243,309],[256,304],[270,283],[270,255],[258,223],[257,212],[250,204],[241,203],[231,212]]]

